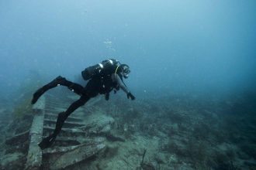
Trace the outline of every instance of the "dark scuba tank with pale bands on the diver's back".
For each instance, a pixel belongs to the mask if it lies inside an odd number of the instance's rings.
[[[114,68],[113,66],[117,66],[118,63],[119,61],[116,59],[106,59],[99,64],[85,68],[85,70],[81,72],[81,76],[84,78],[84,80],[89,80],[93,76],[101,75],[102,70],[111,70]]]

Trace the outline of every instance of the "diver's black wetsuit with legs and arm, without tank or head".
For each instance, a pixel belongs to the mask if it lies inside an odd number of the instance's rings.
[[[106,100],[109,100],[109,92],[111,92],[113,89],[119,90],[119,88],[121,88],[124,92],[126,92],[128,98],[131,97],[132,100],[135,99],[135,97],[133,97],[133,95],[127,89],[126,85],[123,83],[122,74],[117,72],[92,77],[92,79],[88,81],[85,87],[82,87],[78,83],[68,81],[62,76],[58,76],[53,81],[37,90],[36,93],[33,94],[33,100],[31,103],[35,104],[44,92],[59,85],[67,87],[81,97],[74,101],[74,103],[71,104],[66,111],[58,114],[54,133],[50,134],[47,138],[44,138],[43,141],[40,142],[39,146],[41,149],[48,148],[54,143],[55,138],[57,137],[57,134],[60,133],[64,121],[67,119],[67,117],[78,107],[84,105],[92,97],[96,97],[98,94],[105,94]]]

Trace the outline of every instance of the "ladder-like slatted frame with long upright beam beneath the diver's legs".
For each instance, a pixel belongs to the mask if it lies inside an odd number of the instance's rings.
[[[88,140],[81,117],[73,113],[67,117],[54,145],[45,150],[38,146],[40,141],[54,131],[57,115],[67,106],[50,95],[43,95],[33,106],[33,124],[29,132],[29,151],[26,169],[58,169],[74,165],[95,155],[106,146],[103,139]]]

